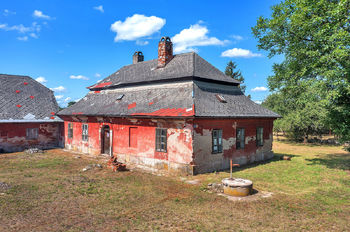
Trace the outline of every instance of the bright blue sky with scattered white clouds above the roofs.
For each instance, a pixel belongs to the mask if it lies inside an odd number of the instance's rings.
[[[235,61],[246,94],[261,101],[280,60],[257,49],[251,27],[278,2],[3,0],[0,73],[39,78],[65,106],[130,64],[134,51],[155,59],[160,37],[169,36],[176,53],[196,51],[222,71]]]

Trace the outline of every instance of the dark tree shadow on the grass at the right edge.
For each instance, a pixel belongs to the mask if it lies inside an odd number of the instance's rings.
[[[324,165],[331,169],[350,170],[350,153],[321,155],[319,158],[306,159],[306,161],[311,162],[308,165]]]

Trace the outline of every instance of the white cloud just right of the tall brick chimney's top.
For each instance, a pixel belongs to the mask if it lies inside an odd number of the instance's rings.
[[[194,51],[196,46],[224,45],[228,42],[216,37],[209,37],[208,33],[208,28],[199,23],[183,29],[171,39],[174,43],[174,52]]]

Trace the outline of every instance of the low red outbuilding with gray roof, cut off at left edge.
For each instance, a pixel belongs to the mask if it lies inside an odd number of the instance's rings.
[[[62,147],[53,92],[28,76],[0,74],[0,152]]]

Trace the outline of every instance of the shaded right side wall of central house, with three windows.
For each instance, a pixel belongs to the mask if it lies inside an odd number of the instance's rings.
[[[263,127],[264,145],[256,145],[256,128]],[[236,149],[236,128],[245,128],[245,148]],[[212,154],[212,130],[223,130],[223,152]],[[194,164],[195,173],[228,169],[233,163],[247,164],[273,157],[273,119],[195,119]]]

